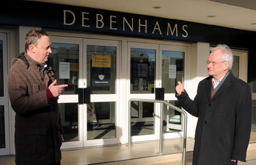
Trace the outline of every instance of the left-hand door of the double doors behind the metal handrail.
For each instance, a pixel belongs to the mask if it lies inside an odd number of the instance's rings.
[[[128,42],[130,68],[129,98],[155,99],[158,45]],[[150,102],[131,102],[132,141],[157,139],[159,109]],[[159,105],[158,105],[159,106]]]

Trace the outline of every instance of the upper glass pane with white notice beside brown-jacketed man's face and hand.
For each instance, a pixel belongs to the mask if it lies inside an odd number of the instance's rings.
[[[57,84],[68,84],[62,95],[77,94],[79,79],[79,45],[68,43],[52,43],[52,53],[47,64],[55,72]]]

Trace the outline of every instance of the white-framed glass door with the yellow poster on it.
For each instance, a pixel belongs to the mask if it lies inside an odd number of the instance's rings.
[[[90,92],[84,115],[84,146],[120,143],[118,129],[120,42],[83,40],[83,86]]]

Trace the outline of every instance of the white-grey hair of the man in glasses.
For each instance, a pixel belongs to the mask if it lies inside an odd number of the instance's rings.
[[[221,50],[221,52],[222,52],[221,61],[229,62],[228,70],[231,70],[232,65],[233,65],[233,59],[234,59],[231,49],[228,47],[228,45],[219,44],[216,47],[212,48],[211,52],[214,52],[214,51],[217,51],[217,50]]]

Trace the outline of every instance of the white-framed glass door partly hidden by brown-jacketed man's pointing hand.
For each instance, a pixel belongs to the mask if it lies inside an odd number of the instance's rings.
[[[57,84],[68,84],[58,100],[64,130],[61,148],[82,147],[84,106],[78,104],[78,88],[83,86],[83,39],[51,35],[51,42],[48,64]]]

